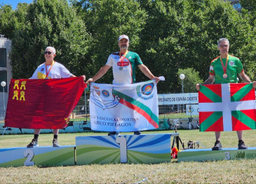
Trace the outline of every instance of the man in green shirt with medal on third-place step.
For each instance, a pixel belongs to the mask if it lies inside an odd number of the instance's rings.
[[[222,84],[222,83],[238,83],[237,76],[239,76],[243,82],[250,83],[250,78],[243,71],[243,65],[240,59],[229,55],[229,40],[227,38],[220,38],[217,45],[220,50],[220,56],[213,59],[210,64],[209,78],[203,83],[208,84]],[[256,82],[253,82],[253,87],[256,87]],[[196,84],[196,89],[200,90],[200,85]],[[236,131],[238,136],[238,149],[247,149],[243,142],[243,131]],[[212,150],[222,149],[220,143],[220,132],[215,132],[215,145]]]

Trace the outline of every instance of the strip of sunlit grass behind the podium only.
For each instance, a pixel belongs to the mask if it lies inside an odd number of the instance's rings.
[[[202,146],[206,148],[212,148],[215,142],[214,132],[199,132],[198,129],[193,130],[177,130],[180,134],[180,138],[184,144],[187,145],[188,141],[199,141]],[[156,132],[142,132],[142,134],[165,134],[173,133],[173,130],[169,131],[156,131]],[[132,132],[122,132],[121,134],[133,134]],[[75,145],[76,136],[105,136],[105,132],[84,132],[76,134],[59,134],[59,143],[65,145]],[[12,148],[12,147],[25,147],[33,139],[32,134],[15,134],[15,135],[4,135],[0,139],[0,148]],[[246,145],[250,147],[256,147],[256,130],[249,130],[243,132],[243,140]],[[39,146],[51,146],[53,141],[53,134],[40,134],[39,135]],[[236,132],[222,132],[221,134],[222,146],[226,148],[235,148],[237,146],[237,135]],[[203,147],[202,147],[203,148]]]

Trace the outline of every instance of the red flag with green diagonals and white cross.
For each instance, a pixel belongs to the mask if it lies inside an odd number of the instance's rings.
[[[198,99],[201,132],[256,129],[252,83],[200,85]]]

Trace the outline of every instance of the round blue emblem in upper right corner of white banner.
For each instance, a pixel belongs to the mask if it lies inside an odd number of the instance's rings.
[[[147,83],[144,85],[138,85],[136,88],[137,96],[141,99],[148,100],[154,97],[154,83]]]

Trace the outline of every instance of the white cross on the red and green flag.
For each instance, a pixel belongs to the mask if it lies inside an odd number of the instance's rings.
[[[255,100],[231,101],[230,85],[222,84],[222,102],[199,103],[199,112],[222,111],[224,131],[232,131],[231,111],[243,111],[255,109]]]

